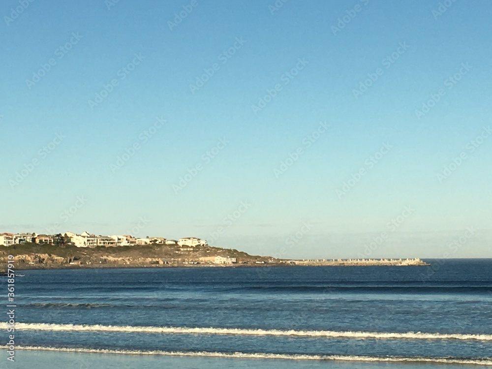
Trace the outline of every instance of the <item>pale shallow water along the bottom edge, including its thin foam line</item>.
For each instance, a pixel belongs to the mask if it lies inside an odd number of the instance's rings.
[[[56,360],[64,368],[75,368],[83,362],[88,368],[104,368],[107,366],[119,368],[222,368],[227,363],[228,368],[347,368],[354,365],[360,368],[376,369],[384,365],[385,368],[424,369],[442,368],[453,365],[453,368],[489,367],[488,358],[459,358],[459,357],[423,357],[423,356],[370,356],[370,355],[327,355],[327,354],[285,354],[268,352],[220,352],[220,351],[160,351],[160,350],[118,350],[105,348],[63,347],[63,346],[20,346],[17,347],[22,362],[35,365],[39,369],[52,368],[51,363]],[[5,349],[3,349],[5,350]],[[155,357],[159,363],[155,364]],[[184,365],[186,363],[187,365]],[[149,367],[147,366],[150,365]],[[155,364],[155,367],[154,367]],[[273,364],[277,364],[272,366]],[[225,366],[224,366],[225,367]]]

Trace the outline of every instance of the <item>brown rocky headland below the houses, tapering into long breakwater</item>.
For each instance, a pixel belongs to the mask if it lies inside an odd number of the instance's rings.
[[[66,268],[274,267],[274,266],[421,266],[421,259],[289,260],[249,255],[208,245],[96,246],[23,243],[0,246],[0,270],[13,255],[17,270]]]

